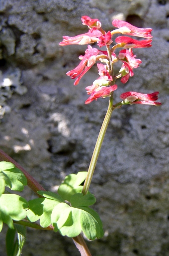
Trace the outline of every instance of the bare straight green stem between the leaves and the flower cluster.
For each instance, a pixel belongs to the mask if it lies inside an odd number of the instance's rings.
[[[96,162],[97,162],[97,159],[98,159],[98,155],[100,153],[101,145],[102,145],[102,142],[103,142],[103,139],[104,139],[104,135],[106,133],[106,130],[107,130],[107,127],[108,127],[108,124],[109,124],[109,121],[110,121],[111,114],[112,114],[113,110],[114,110],[114,108],[113,108],[113,97],[111,96],[110,100],[109,100],[108,110],[107,110],[107,113],[105,115],[105,118],[104,118],[103,124],[101,126],[100,132],[98,134],[98,138],[97,138],[97,141],[96,141],[96,144],[95,144],[95,148],[94,148],[94,151],[93,151],[93,154],[92,154],[92,157],[91,157],[90,165],[88,167],[87,176],[86,176],[86,179],[85,179],[85,182],[84,182],[84,187],[83,187],[83,190],[82,190],[82,193],[84,195],[87,193],[87,191],[89,189],[91,179],[92,179],[92,176],[93,176],[93,173],[94,173],[94,169],[95,169],[95,166],[96,166]]]

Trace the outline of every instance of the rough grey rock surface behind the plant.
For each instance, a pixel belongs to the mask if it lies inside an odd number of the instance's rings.
[[[82,15],[100,19],[105,30],[114,18],[153,28],[153,47],[134,49],[143,63],[118,84],[115,101],[124,91],[160,91],[163,103],[113,113],[90,189],[105,236],[89,249],[92,256],[169,256],[169,0],[0,0],[1,72],[21,74],[14,93],[5,92],[0,148],[48,190],[87,170],[108,99],[84,105],[97,70],[74,87],[65,73],[86,46],[58,45],[63,35],[87,31]],[[34,196],[29,189],[25,195]],[[2,233],[0,245],[5,256]],[[80,254],[71,239],[28,229],[23,255]]]

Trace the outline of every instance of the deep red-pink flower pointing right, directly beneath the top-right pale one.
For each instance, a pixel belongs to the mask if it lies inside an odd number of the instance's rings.
[[[150,44],[152,42],[151,39],[139,41],[128,36],[118,36],[115,41],[116,43],[124,43],[123,48],[147,48],[152,46],[152,44]]]

